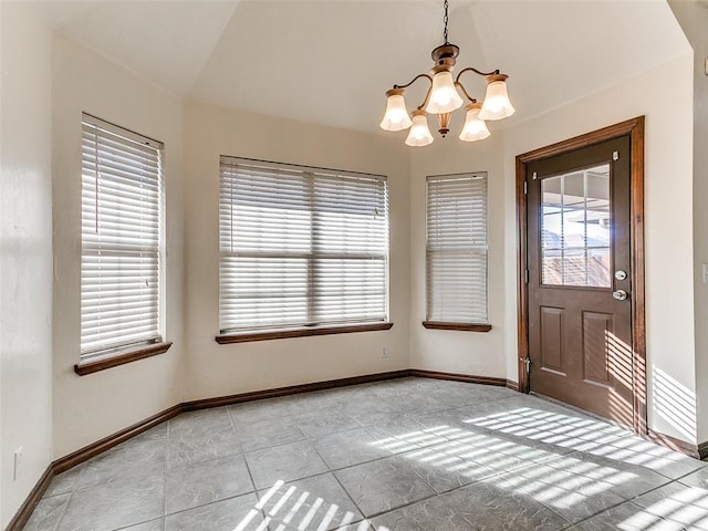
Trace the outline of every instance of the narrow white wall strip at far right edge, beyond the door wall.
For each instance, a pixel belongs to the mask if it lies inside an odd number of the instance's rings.
[[[708,284],[702,264],[708,264],[708,4],[671,1],[671,9],[694,48],[694,282],[696,323],[696,388],[698,441],[708,441]]]

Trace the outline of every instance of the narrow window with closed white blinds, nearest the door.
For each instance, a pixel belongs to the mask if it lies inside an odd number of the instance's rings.
[[[487,174],[427,178],[427,321],[487,324]]]

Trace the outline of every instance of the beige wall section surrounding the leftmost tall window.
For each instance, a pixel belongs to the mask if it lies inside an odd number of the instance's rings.
[[[179,402],[184,366],[181,101],[115,63],[53,41],[54,458]],[[165,143],[166,340],[158,356],[77,376],[81,287],[81,113]]]

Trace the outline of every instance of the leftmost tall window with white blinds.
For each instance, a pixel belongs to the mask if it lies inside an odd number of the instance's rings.
[[[162,341],[159,142],[83,115],[81,357]]]

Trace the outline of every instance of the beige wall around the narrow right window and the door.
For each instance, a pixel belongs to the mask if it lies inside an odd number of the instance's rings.
[[[516,156],[646,115],[646,305],[649,426],[696,442],[694,360],[693,56],[517,122],[478,144],[455,137],[412,153],[410,365],[518,382]],[[490,124],[496,128],[497,124]],[[425,176],[489,173],[489,317],[485,333],[426,330]],[[706,382],[708,387],[708,381]],[[666,394],[667,393],[667,394]],[[659,396],[662,395],[662,396]],[[685,412],[677,414],[676,412]],[[704,440],[704,439],[701,439]]]

